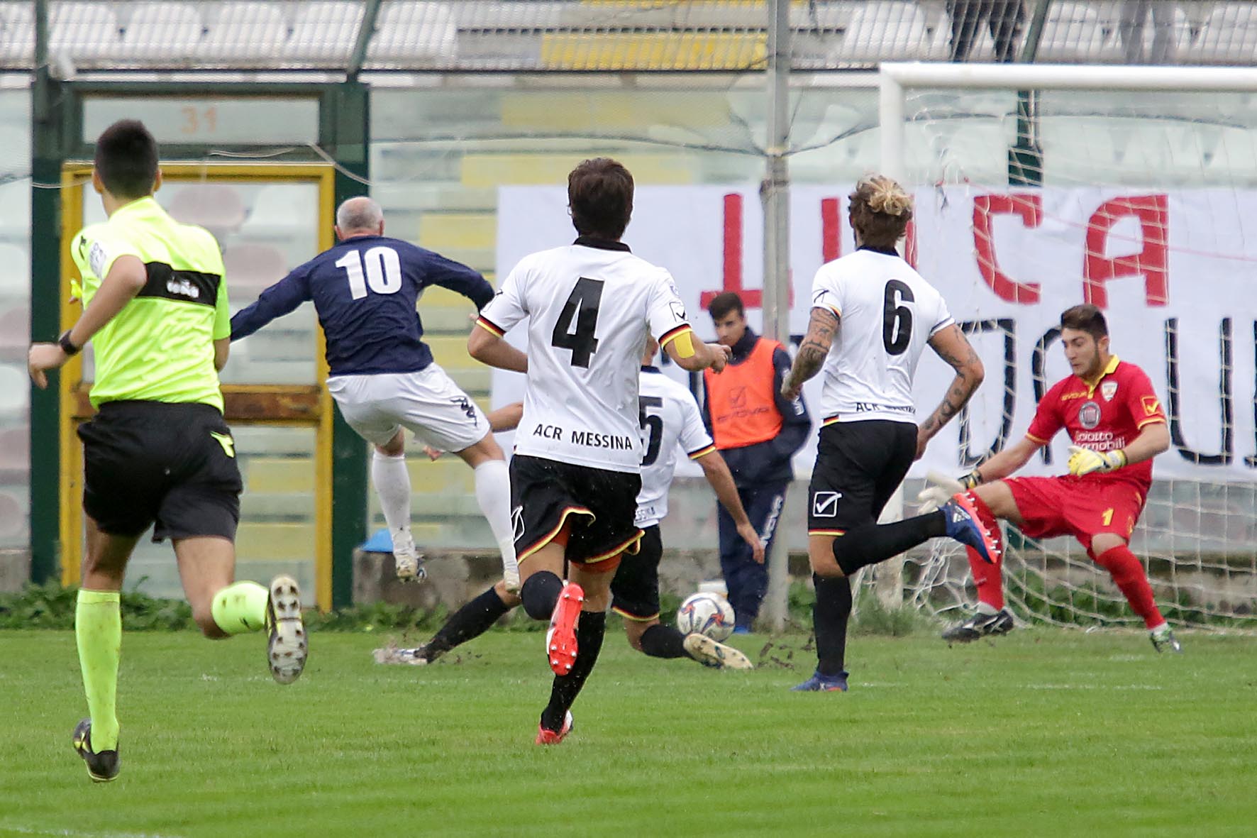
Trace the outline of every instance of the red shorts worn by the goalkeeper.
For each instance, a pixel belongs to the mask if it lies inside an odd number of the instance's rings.
[[[1094,477],[1011,477],[1004,481],[1031,539],[1072,535],[1091,549],[1101,532],[1130,541],[1146,497],[1140,486]]]

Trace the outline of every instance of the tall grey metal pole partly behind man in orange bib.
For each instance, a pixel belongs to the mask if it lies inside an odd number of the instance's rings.
[[[789,344],[789,0],[768,4],[768,148],[759,196],[764,209],[764,337]],[[781,512],[777,521],[779,523]],[[789,600],[789,549],[773,540],[768,562],[764,619],[773,632],[786,628]]]

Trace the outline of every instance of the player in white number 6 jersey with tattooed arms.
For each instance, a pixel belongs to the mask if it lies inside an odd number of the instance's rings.
[[[934,536],[957,539],[987,561],[996,550],[973,503],[959,494],[936,512],[876,522],[913,461],[978,389],[983,370],[943,297],[895,252],[913,216],[911,196],[889,177],[866,177],[850,201],[857,249],[816,272],[807,336],[782,384],[793,399],[825,364],[807,518],[820,662],[799,691],[847,688],[848,576],[856,570]],[[913,376],[926,345],[957,374],[918,428]]]

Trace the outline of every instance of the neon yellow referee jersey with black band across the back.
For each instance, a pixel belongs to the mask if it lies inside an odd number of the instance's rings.
[[[214,341],[231,335],[231,312],[222,254],[209,230],[180,224],[155,199],[141,198],[79,230],[70,252],[83,274],[84,307],[118,257],[137,257],[148,274],[140,293],[92,337],[92,405],[190,401],[222,410]]]

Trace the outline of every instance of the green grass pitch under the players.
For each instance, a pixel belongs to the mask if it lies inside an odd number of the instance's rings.
[[[851,692],[798,695],[804,638],[793,669],[738,673],[613,629],[552,749],[542,637],[420,668],[316,633],[280,687],[259,638],[131,633],[123,770],[93,785],[73,634],[0,632],[0,835],[1257,834],[1251,637],[1188,633],[1182,657],[1123,632],[856,637]]]

